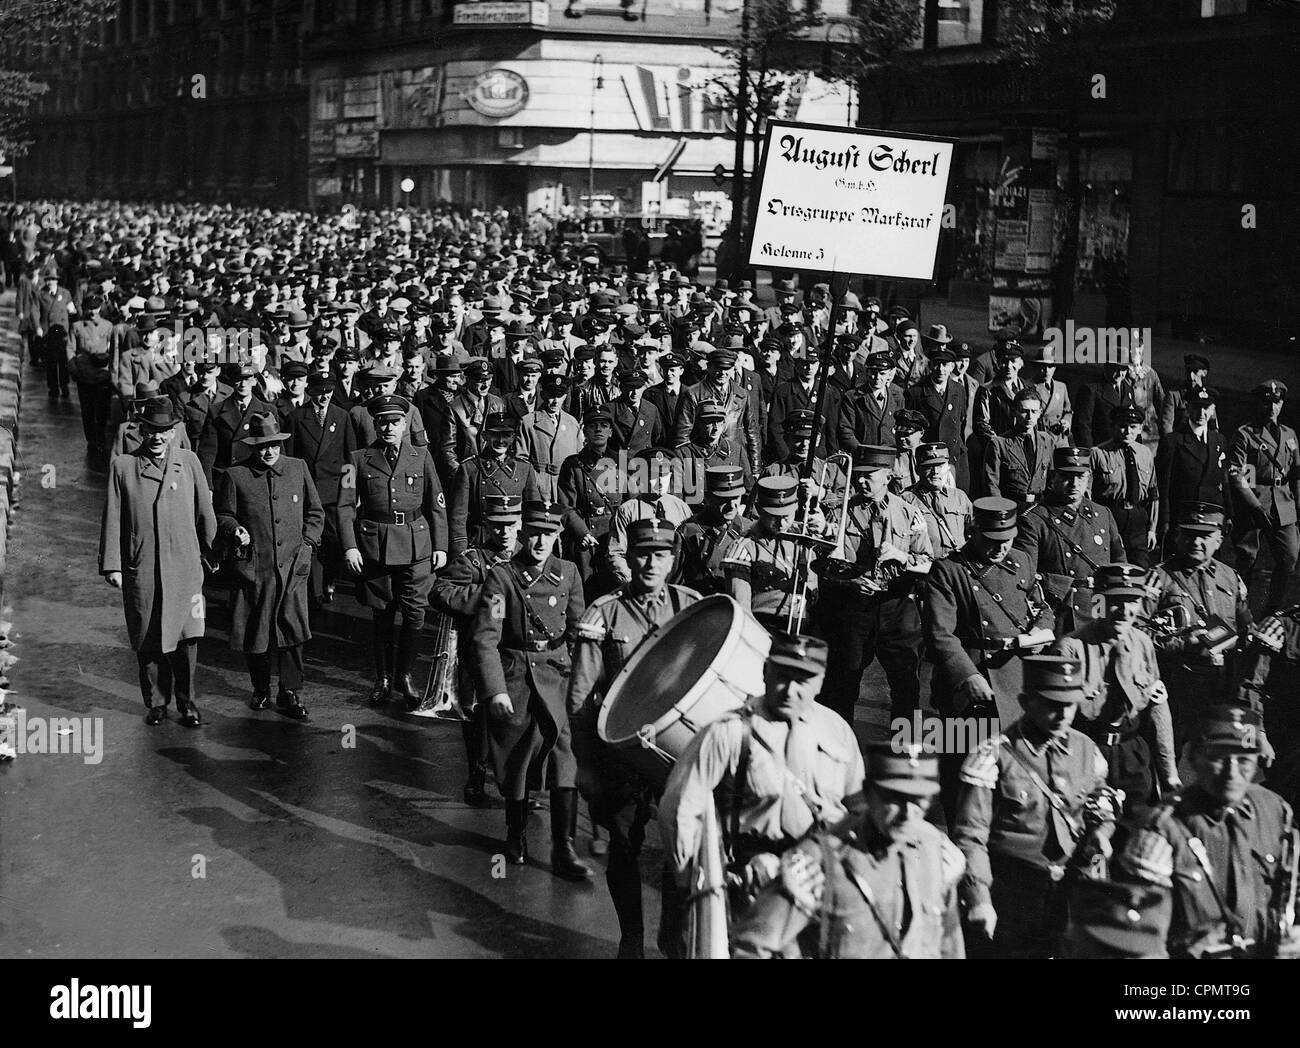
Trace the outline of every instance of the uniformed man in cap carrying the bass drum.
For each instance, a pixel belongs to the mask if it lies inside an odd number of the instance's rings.
[[[619,957],[645,957],[638,858],[656,789],[597,735],[597,718],[610,684],[628,657],[655,627],[699,599],[685,586],[668,585],[676,529],[667,521],[637,520],[628,527],[632,579],[594,601],[577,625],[568,715],[578,789],[592,819],[610,833],[604,872],[619,917]]]

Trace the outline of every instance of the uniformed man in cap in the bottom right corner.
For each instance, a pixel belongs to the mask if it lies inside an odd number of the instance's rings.
[[[1295,813],[1253,781],[1261,729],[1253,710],[1206,709],[1191,750],[1195,783],[1119,852],[1126,874],[1173,888],[1171,957],[1270,957],[1291,935],[1273,901]]]

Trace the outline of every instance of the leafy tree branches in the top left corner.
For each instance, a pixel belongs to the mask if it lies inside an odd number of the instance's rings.
[[[27,113],[49,90],[32,69],[46,48],[68,47],[117,12],[116,0],[0,0],[0,153],[21,156]]]

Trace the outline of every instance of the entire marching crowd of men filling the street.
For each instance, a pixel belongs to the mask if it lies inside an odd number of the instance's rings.
[[[495,804],[491,775],[508,861],[546,788],[551,869],[589,879],[586,800],[623,957],[645,952],[655,818],[668,956],[699,954],[723,889],[733,956],[1284,950],[1283,381],[1221,428],[1208,361],[1165,389],[1135,339],[1071,399],[1048,345],[978,348],[781,277],[760,306],[748,280],[629,270],[504,213],[9,218],[26,352],[52,399],[75,384],[108,472],[99,571],[148,724],[173,705],[202,724],[205,585],[230,592],[250,706],[307,719],[312,616],[348,586],[372,706],[426,701],[421,655],[458,666],[464,800]],[[714,594],[771,635],[764,689],[655,781],[602,741],[601,705]],[[893,726],[920,723],[928,676],[966,741],[861,748],[876,659]],[[711,819],[722,887],[701,880]]]

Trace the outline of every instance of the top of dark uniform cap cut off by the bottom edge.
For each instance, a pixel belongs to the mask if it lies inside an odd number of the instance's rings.
[[[1070,957],[1166,957],[1174,902],[1158,884],[1075,882],[1066,953]]]

